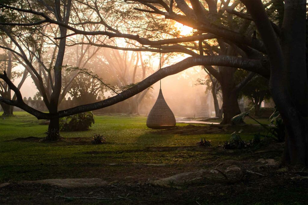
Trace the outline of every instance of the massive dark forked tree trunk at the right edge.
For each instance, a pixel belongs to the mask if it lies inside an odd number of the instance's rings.
[[[270,58],[270,90],[286,124],[285,164],[308,164],[306,1],[285,0],[281,42],[261,1],[242,0]]]

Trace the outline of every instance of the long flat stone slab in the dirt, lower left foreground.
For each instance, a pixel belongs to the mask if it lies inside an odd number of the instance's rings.
[[[78,187],[100,187],[106,186],[108,183],[99,178],[84,178],[84,179],[43,179],[37,181],[22,181],[22,183],[39,183],[49,184],[64,188]]]

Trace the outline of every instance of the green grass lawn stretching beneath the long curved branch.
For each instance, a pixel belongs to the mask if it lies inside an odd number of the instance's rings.
[[[105,115],[95,116],[95,124],[89,131],[61,132],[64,138],[90,138],[95,133],[100,134],[107,140],[103,145],[8,141],[29,136],[44,137],[48,127],[39,125],[43,120],[37,120],[26,112],[14,112],[14,114],[14,117],[0,120],[1,182],[63,177],[63,173],[74,169],[72,164],[191,162],[195,159],[178,157],[178,153],[165,152],[162,156],[160,153],[144,152],[142,149],[160,146],[192,146],[200,138],[212,140],[213,145],[218,145],[230,137],[229,134],[159,135],[146,127],[144,116]],[[185,125],[187,124],[178,124],[178,126]],[[95,155],[91,154],[93,151]],[[187,153],[184,151],[185,154]],[[195,154],[201,155],[198,152]],[[209,158],[209,156],[200,157]],[[52,171],[51,166],[56,166],[57,169]],[[73,177],[72,174],[68,175]],[[90,176],[91,173],[85,172],[83,168],[75,172],[75,177],[85,175]]]

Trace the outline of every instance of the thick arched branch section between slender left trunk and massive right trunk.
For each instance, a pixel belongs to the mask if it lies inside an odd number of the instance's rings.
[[[143,81],[137,83],[135,86],[123,91],[122,93],[105,99],[103,101],[81,105],[73,107],[67,110],[59,111],[57,114],[51,115],[51,118],[61,118],[69,115],[74,115],[80,112],[92,111],[101,109],[114,105],[118,102],[124,101],[132,96],[140,93],[141,91],[147,89],[149,86],[158,82],[160,79],[165,78],[169,75],[179,73],[187,68],[200,65],[213,65],[213,66],[228,66],[228,67],[237,67],[245,70],[253,71],[256,73],[264,72],[266,69],[262,67],[259,60],[251,60],[246,58],[239,58],[234,56],[196,56],[188,57],[176,64],[167,66],[156,71],[154,74],[150,75],[148,78],[145,78]],[[267,70],[266,70],[267,71]]]

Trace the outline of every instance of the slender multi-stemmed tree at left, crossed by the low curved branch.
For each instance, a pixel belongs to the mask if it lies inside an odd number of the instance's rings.
[[[23,4],[21,6],[24,6]],[[30,6],[30,4],[29,4]],[[68,0],[66,1],[63,5],[61,5],[61,2],[56,0],[55,4],[46,4],[43,2],[43,5],[39,4],[34,4],[32,5],[33,8],[42,8],[45,6],[48,10],[48,15],[54,16],[57,21],[62,22],[63,24],[68,24],[68,19],[70,15],[70,9],[71,9],[71,1]],[[30,6],[30,9],[32,10],[32,7]],[[35,19],[34,15],[29,15],[27,16],[28,18],[24,17],[23,15],[18,16],[18,11],[13,12],[16,15],[14,16],[13,19],[3,19],[4,16],[6,15],[6,11],[2,13],[2,21],[6,22],[7,20],[9,21],[21,21],[21,22],[26,22],[25,24],[27,25],[27,22],[32,21]],[[45,22],[41,22],[45,23]],[[30,23],[31,25],[31,23]],[[59,40],[59,44],[55,47],[54,49],[54,54],[57,52],[57,56],[55,58],[55,62],[53,64],[54,58],[51,59],[50,66],[46,66],[43,62],[42,54],[43,54],[43,40],[42,38],[44,37],[43,32],[45,32],[45,29],[47,29],[47,26],[44,26],[45,28],[43,30],[40,30],[40,26],[36,26],[34,24],[34,27],[25,27],[26,31],[30,32],[25,32],[24,30],[18,30],[14,27],[6,28],[5,26],[0,26],[0,29],[7,35],[8,38],[14,43],[14,45],[17,47],[18,51],[15,51],[9,47],[3,47],[4,49],[10,50],[12,53],[14,53],[18,58],[21,58],[23,62],[28,66],[30,69],[29,72],[31,74],[32,79],[34,80],[34,83],[36,86],[39,88],[39,91],[43,97],[43,101],[45,102],[48,110],[50,113],[57,113],[58,111],[58,104],[59,104],[59,97],[60,97],[60,92],[62,88],[62,66],[63,66],[63,58],[65,54],[65,46],[66,46],[66,38],[61,38]],[[67,28],[63,26],[59,26],[58,30],[59,31],[59,36],[60,37],[65,37],[67,35]],[[56,32],[57,32],[56,31]],[[20,34],[21,32],[21,34]],[[14,35],[12,35],[14,34]],[[45,34],[46,35],[46,34]],[[47,34],[48,37],[48,34]],[[18,41],[20,43],[18,43]],[[52,40],[51,40],[52,41]],[[26,52],[28,51],[30,55],[26,55]],[[29,59],[30,57],[30,59]],[[39,71],[37,71],[34,66],[33,58],[35,58],[38,62],[38,67]],[[53,69],[51,69],[53,67]],[[43,78],[42,78],[42,70],[46,70],[48,73],[48,79],[49,81],[52,81],[54,79],[54,83],[51,86],[51,94],[50,96],[47,96],[47,88],[44,86]],[[51,77],[51,72],[54,73],[54,78]],[[7,78],[7,76],[6,76]],[[3,79],[3,78],[2,78]],[[4,79],[7,83],[7,80]],[[9,87],[11,88],[11,85],[8,84]],[[49,85],[49,82],[47,81],[47,85]],[[16,92],[15,92],[16,93]],[[17,102],[20,102],[20,92],[16,93],[17,95]],[[24,103],[24,102],[22,102]],[[50,124],[48,127],[48,138],[49,139],[59,139],[59,118],[56,119],[51,119]]]

